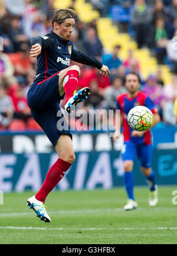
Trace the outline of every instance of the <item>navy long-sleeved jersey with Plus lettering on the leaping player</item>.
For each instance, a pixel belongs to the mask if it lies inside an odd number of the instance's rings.
[[[73,49],[73,43],[62,39],[51,31],[43,37],[32,37],[31,45],[41,44],[41,54],[37,57],[37,73],[34,82],[40,82],[55,73],[68,68],[70,60],[101,69],[99,60]]]

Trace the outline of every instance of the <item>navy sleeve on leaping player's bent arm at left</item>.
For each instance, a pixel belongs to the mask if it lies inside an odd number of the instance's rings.
[[[33,46],[36,43],[41,44],[44,50],[50,50],[50,49],[53,49],[56,41],[53,37],[40,36],[40,37],[32,37],[30,40],[30,43],[31,43],[31,46]]]

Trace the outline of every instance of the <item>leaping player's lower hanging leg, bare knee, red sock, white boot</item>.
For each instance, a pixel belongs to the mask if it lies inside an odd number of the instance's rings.
[[[40,191],[27,200],[27,205],[30,206],[30,208],[37,213],[37,217],[40,217],[44,222],[51,221],[45,209],[45,199],[55,185],[64,177],[65,172],[75,160],[73,143],[70,136],[61,135],[55,145],[55,149],[59,158],[48,170]]]

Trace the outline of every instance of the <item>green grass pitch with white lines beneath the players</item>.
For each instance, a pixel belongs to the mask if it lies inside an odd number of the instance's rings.
[[[26,206],[34,193],[4,194],[0,244],[176,244],[176,187],[159,187],[159,203],[148,206],[148,187],[135,187],[138,209],[124,212],[123,188],[53,191],[46,200],[51,223]]]

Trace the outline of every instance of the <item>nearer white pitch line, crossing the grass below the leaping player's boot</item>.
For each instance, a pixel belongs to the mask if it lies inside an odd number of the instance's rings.
[[[41,231],[103,231],[103,230],[177,230],[177,227],[166,228],[166,227],[157,227],[157,228],[34,228],[34,227],[17,227],[17,226],[0,226],[0,229],[22,229],[22,230],[41,230]]]

